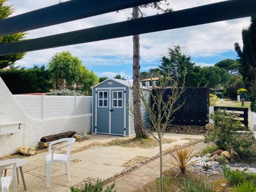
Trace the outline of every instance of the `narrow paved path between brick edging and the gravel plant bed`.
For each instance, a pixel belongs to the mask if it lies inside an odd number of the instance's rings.
[[[193,148],[195,148],[195,152],[198,152],[206,145],[207,144],[204,142],[200,142],[194,145]],[[168,155],[163,156],[163,170],[167,170],[172,166],[168,163],[168,160]],[[131,192],[148,182],[154,181],[157,177],[159,177],[159,166],[159,159],[155,159],[154,161],[139,167],[133,172],[116,179],[115,187],[117,192]],[[113,182],[109,183],[107,186],[111,185],[112,183]]]

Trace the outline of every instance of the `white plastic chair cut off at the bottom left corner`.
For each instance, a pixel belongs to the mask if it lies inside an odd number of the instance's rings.
[[[10,167],[11,165],[13,165],[12,176],[2,177],[3,170],[7,167]],[[0,166],[0,192],[8,192],[11,183],[12,183],[13,192],[16,192],[17,191],[16,176],[17,176],[16,163],[1,165]]]

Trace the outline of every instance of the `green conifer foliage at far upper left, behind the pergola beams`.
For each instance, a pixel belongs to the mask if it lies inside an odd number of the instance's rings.
[[[13,12],[14,8],[7,5],[8,0],[0,0],[0,19],[9,17]],[[0,45],[9,44],[10,42],[21,41],[25,38],[26,33],[15,33],[6,36],[0,36]],[[0,69],[8,66],[13,66],[15,61],[22,59],[26,53],[16,53],[11,55],[0,56]]]

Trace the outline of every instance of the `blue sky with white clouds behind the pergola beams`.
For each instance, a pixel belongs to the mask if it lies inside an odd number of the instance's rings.
[[[66,0],[67,1],[67,0]],[[61,2],[65,2],[62,0]],[[222,2],[221,0],[167,0],[168,7],[174,11]],[[59,3],[59,0],[9,0],[16,10],[13,15],[36,10]],[[163,7],[166,7],[165,5]],[[146,15],[156,11],[147,8]],[[64,24],[28,31],[27,38],[65,33],[105,24],[122,22],[131,17],[131,9],[84,18]],[[234,42],[242,45],[241,31],[248,27],[250,18],[233,19],[224,22],[185,27],[140,35],[141,71],[148,71],[161,65],[161,57],[167,55],[168,48],[180,44],[191,61],[199,66],[212,66],[225,59],[237,58]],[[70,51],[73,56],[82,60],[82,65],[93,70],[99,77],[114,77],[117,73],[132,79],[133,41],[132,36],[89,42],[46,50],[28,52],[16,62],[17,66],[32,67],[48,65],[51,57],[60,51]]]

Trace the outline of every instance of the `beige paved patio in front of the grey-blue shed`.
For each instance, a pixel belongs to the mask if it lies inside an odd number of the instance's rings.
[[[137,157],[152,157],[159,152],[159,148],[129,148],[121,146],[104,146],[105,143],[123,137],[109,136],[109,135],[91,135],[92,138],[83,142],[75,142],[72,146],[71,155],[71,174],[72,180],[68,181],[68,176],[65,175],[65,166],[62,163],[55,163],[51,169],[51,185],[46,187],[46,177],[44,176],[45,164],[44,158],[47,153],[37,154],[35,156],[27,157],[28,164],[24,166],[24,176],[27,184],[27,191],[70,191],[70,186],[76,185],[86,178],[100,178],[106,179],[117,173],[120,173],[125,167],[122,165]],[[181,135],[181,134],[165,134],[164,138],[174,139],[175,142],[163,144],[163,149],[172,148],[175,145],[185,145],[191,142],[191,139],[203,139],[203,136],[197,135]],[[198,146],[203,147],[203,145]],[[158,174],[153,167],[159,159],[156,159],[141,168],[121,177],[129,178],[138,170],[145,169],[145,167],[152,169],[154,174],[148,172],[152,178],[156,178]],[[145,169],[146,170],[146,169]],[[130,177],[134,178],[134,177]],[[144,182],[144,181],[143,181]],[[20,182],[22,183],[22,182]],[[117,184],[117,191],[123,191],[120,185]],[[122,185],[122,184],[121,184]],[[119,190],[120,188],[120,190]],[[17,185],[17,191],[24,191],[23,185]]]

